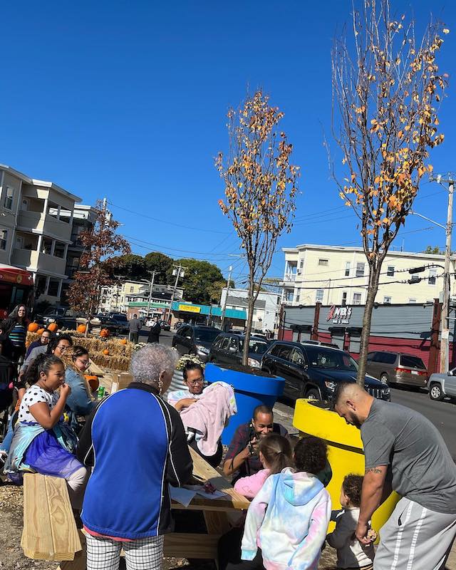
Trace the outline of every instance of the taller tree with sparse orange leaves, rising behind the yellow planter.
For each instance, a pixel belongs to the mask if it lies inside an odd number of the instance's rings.
[[[353,12],[353,43],[337,38],[332,54],[333,135],[346,177],[333,176],[341,199],[359,219],[369,267],[358,383],[364,385],[371,316],[383,261],[432,172],[439,102],[447,75],[437,54],[448,33],[430,22],[416,41],[413,21],[390,14],[389,0],[361,0]],[[342,175],[343,176],[343,175]]]

